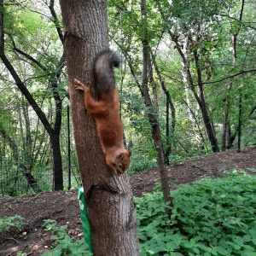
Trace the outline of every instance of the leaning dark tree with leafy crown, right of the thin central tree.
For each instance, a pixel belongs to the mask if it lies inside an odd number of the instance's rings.
[[[208,17],[205,13],[201,14],[200,6],[194,4],[186,6],[186,4],[178,3],[177,1],[174,1],[172,5],[167,1],[157,3],[162,19],[166,24],[166,32],[169,33],[172,42],[175,44],[175,49],[177,49],[181,57],[183,73],[186,76],[185,79],[188,82],[188,87],[201,109],[202,119],[212,151],[218,152],[218,141],[207,106],[203,80],[204,77],[210,79],[212,76],[211,60],[208,56],[210,47],[206,47],[205,44],[205,42],[211,44],[212,38],[209,37],[205,25],[202,25],[202,20],[207,20]],[[208,6],[208,9],[214,12],[217,11],[214,9],[215,7],[215,3],[213,3],[212,6]],[[207,9],[203,9],[203,11],[207,12]],[[187,13],[187,16],[183,15],[183,13]],[[172,15],[171,18],[169,18],[170,15]],[[167,25],[169,21],[171,22]],[[195,70],[195,75],[193,70]]]

